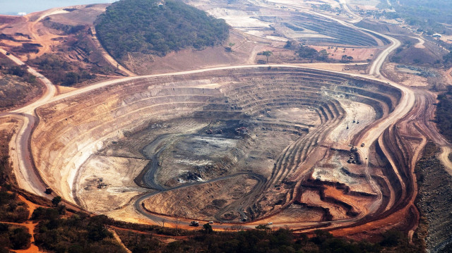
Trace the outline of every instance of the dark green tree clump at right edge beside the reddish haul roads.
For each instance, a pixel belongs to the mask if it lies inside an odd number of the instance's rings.
[[[438,96],[438,106],[436,106],[436,125],[447,140],[452,141],[452,87],[448,86],[448,91]]]

